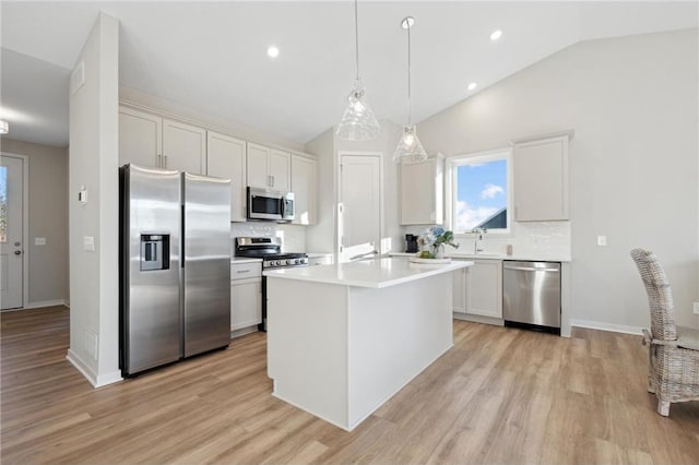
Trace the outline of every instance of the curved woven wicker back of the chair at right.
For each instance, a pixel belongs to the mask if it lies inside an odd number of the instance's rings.
[[[665,271],[651,251],[633,249],[631,250],[631,258],[636,262],[648,294],[653,338],[676,341],[677,330],[675,327],[673,295]]]

